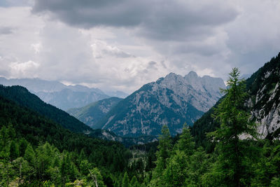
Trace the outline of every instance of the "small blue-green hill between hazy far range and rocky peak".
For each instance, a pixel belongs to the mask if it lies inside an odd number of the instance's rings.
[[[106,116],[106,113],[121,100],[122,99],[118,97],[110,97],[88,104],[82,108],[69,109],[67,112],[93,129],[97,129],[98,127],[95,126],[96,123]]]

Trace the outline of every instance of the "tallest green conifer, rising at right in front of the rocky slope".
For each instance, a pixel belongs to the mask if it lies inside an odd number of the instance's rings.
[[[246,176],[244,160],[248,147],[244,145],[244,141],[241,141],[240,136],[255,137],[255,124],[248,121],[249,115],[244,110],[245,86],[244,79],[240,79],[239,70],[233,68],[228,78],[228,89],[222,90],[226,96],[214,114],[221,127],[210,133],[217,141],[218,152],[217,162],[211,174],[211,179],[214,181],[210,185],[246,185],[242,177]]]

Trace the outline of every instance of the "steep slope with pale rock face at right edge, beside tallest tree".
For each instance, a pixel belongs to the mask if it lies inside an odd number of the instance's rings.
[[[280,53],[247,80],[246,102],[262,138],[280,134]]]

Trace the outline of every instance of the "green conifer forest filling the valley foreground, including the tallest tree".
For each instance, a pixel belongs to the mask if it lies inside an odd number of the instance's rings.
[[[280,186],[280,141],[258,137],[237,68],[222,91],[204,138],[187,124],[171,137],[164,125],[158,142],[130,148],[0,95],[0,186]]]

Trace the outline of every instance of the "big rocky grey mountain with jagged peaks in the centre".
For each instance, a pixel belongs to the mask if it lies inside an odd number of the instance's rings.
[[[167,124],[172,135],[181,132],[183,123],[193,125],[222,96],[221,78],[168,74],[148,83],[120,101],[97,123],[97,127],[120,136],[158,135]]]

